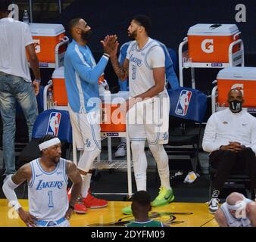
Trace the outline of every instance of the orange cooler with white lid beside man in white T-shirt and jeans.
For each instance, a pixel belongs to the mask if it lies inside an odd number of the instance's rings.
[[[53,23],[30,23],[30,32],[34,40],[36,55],[40,63],[55,63],[55,47],[65,36],[62,24]],[[59,54],[67,49],[63,45]]]

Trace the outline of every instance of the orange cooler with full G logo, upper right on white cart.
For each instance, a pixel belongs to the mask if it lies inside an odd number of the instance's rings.
[[[239,39],[236,24],[195,24],[189,28],[189,57],[192,62],[229,62],[229,45]],[[234,46],[233,53],[239,51]]]

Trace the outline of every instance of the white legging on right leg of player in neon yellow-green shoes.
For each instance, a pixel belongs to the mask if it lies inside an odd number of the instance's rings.
[[[163,188],[170,189],[169,158],[162,144],[148,144],[158,165],[158,174]]]

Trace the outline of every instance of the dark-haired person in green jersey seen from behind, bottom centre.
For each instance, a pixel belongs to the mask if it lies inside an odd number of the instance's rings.
[[[148,218],[148,212],[151,211],[150,200],[150,195],[146,191],[137,191],[133,195],[131,207],[135,221],[126,227],[164,227],[162,222]]]

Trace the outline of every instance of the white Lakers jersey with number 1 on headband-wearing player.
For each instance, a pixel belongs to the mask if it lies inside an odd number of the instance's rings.
[[[39,159],[30,162],[32,178],[28,186],[30,213],[41,220],[58,220],[68,209],[66,160],[60,158],[52,172],[45,172]]]

